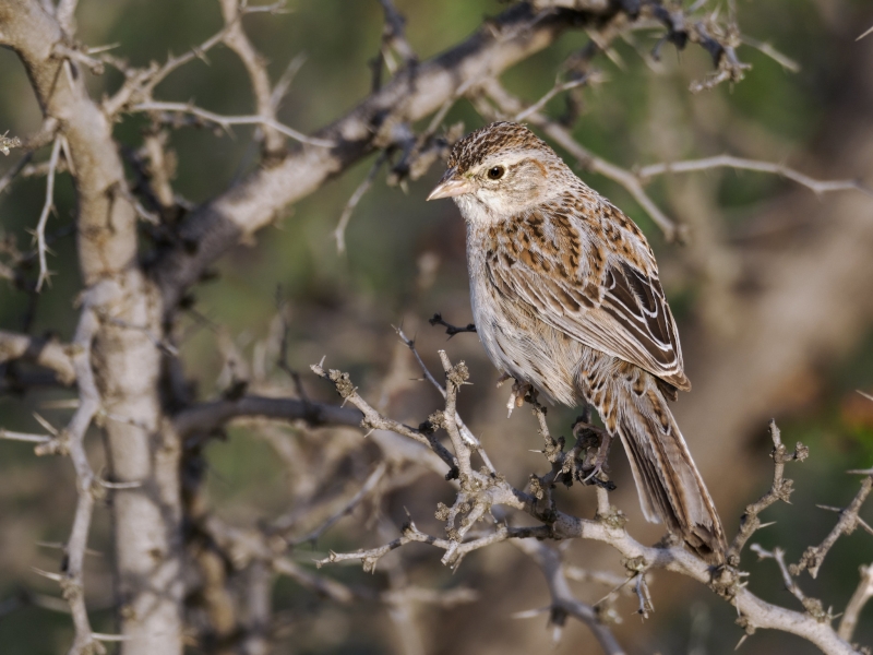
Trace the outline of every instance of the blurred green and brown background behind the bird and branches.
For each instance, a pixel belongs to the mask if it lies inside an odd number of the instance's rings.
[[[397,0],[406,15],[407,36],[421,59],[466,37],[483,17],[504,8],[494,0]],[[709,2],[713,10],[720,4]],[[725,4],[725,3],[721,3]],[[288,13],[246,20],[256,47],[270,60],[275,80],[294,57],[306,62],[283,103],[280,118],[310,132],[342,116],[371,85],[369,62],[382,32],[378,2],[289,0]],[[721,7],[726,10],[726,5]],[[873,35],[856,38],[873,25],[873,7],[861,0],[772,0],[737,2],[744,35],[766,41],[799,64],[787,70],[753,47],[741,47],[752,64],[734,85],[692,95],[692,80],[710,68],[695,47],[662,49],[648,57],[658,32],[636,33],[615,44],[613,56],[598,57],[600,83],[585,88],[583,112],[574,134],[590,151],[625,167],[661,160],[731,153],[786,163],[823,179],[860,179],[873,184]],[[134,64],[163,60],[202,43],[220,27],[211,0],[81,0],[79,34],[91,46],[119,44],[115,52]],[[562,61],[583,47],[588,35],[570,32],[555,45],[509,71],[506,86],[527,102],[553,84]],[[251,93],[244,70],[225,48],[208,63],[194,61],[164,82],[156,96],[195,100],[211,110],[250,114]],[[108,71],[89,80],[95,97],[117,88],[120,76]],[[564,99],[547,111],[560,116]],[[467,130],[485,120],[466,100],[446,117]],[[14,53],[0,51],[0,132],[25,135],[41,122],[39,108]],[[135,150],[146,127],[142,117],[117,126],[123,147]],[[178,193],[192,203],[208,200],[255,165],[252,129],[232,134],[208,129],[172,132]],[[37,160],[47,152],[38,153]],[[0,174],[20,155],[0,159]],[[337,252],[332,231],[355,188],[372,162],[354,167],[310,198],[288,209],[252,243],[226,255],[211,282],[194,289],[196,302],[182,318],[186,372],[200,400],[216,397],[234,376],[275,380],[284,376],[262,366],[263,343],[275,336],[277,310],[289,322],[289,364],[314,398],[334,401],[309,365],[326,355],[332,367],[349,370],[374,403],[390,372],[404,380],[418,376],[408,353],[397,346],[393,325],[415,335],[424,360],[438,367],[436,350],[470,365],[474,385],[464,389],[462,415],[479,434],[499,471],[517,486],[543,460],[534,418],[526,409],[505,418],[505,388],[493,389],[497,373],[475,335],[445,335],[427,319],[436,311],[456,324],[470,319],[464,260],[464,229],[450,202],[424,203],[441,170],[435,166],[407,190],[388,187],[380,176],[356,209],[347,231],[348,251]],[[803,441],[810,460],[790,466],[797,491],[791,505],[768,510],[776,524],[756,535],[765,547],[781,545],[789,561],[818,543],[836,516],[816,503],[845,505],[856,493],[850,468],[873,465],[873,402],[856,390],[873,392],[873,200],[860,192],[815,195],[777,176],[733,170],[668,176],[648,190],[668,214],[691,227],[685,246],[665,242],[658,228],[620,187],[578,169],[593,187],[631,215],[649,237],[662,281],[680,323],[685,361],[694,390],[683,394],[675,412],[726,527],[736,531],[742,507],[768,488],[767,420],[775,417],[787,443]],[[26,177],[0,198],[4,252],[31,248],[33,228],[45,198],[45,178]],[[49,265],[57,273],[38,298],[0,284],[0,327],[51,333],[69,340],[81,288],[73,235],[74,195],[69,176],[60,175],[55,236]],[[147,253],[148,240],[143,239]],[[273,332],[271,332],[273,331]],[[260,349],[259,349],[260,348]],[[231,357],[232,356],[232,357]],[[237,364],[228,369],[228,358]],[[260,359],[259,359],[260,357]],[[405,359],[406,358],[406,359]],[[246,367],[249,368],[248,372]],[[45,388],[22,393],[15,371],[0,369],[0,425],[38,429],[33,412],[62,425],[69,390]],[[382,395],[395,418],[423,420],[439,407],[424,383],[402,384]],[[573,410],[549,415],[555,433],[567,433]],[[276,440],[290,450],[277,456]],[[288,445],[294,444],[294,445]],[[339,444],[339,445],[337,445]],[[101,461],[99,434],[91,438],[94,461]],[[295,466],[332,464],[334,490],[355,489],[374,465],[374,449],[357,430],[304,430],[242,425],[206,451],[206,497],[229,523],[253,526],[294,509],[301,493]],[[614,502],[630,516],[630,529],[643,541],[660,536],[643,521],[621,449],[611,457],[619,485]],[[344,519],[314,547],[301,547],[295,559],[309,565],[328,549],[372,547],[397,536],[408,511],[419,527],[438,534],[438,501],[450,489],[433,475],[386,491]],[[69,617],[52,610],[56,585],[32,568],[57,570],[52,544],[69,533],[75,501],[68,461],[39,460],[26,444],[0,442],[0,652],[57,653],[71,638]],[[574,487],[561,493],[563,507],[591,515],[594,495]],[[862,512],[873,522],[873,509]],[[311,527],[311,526],[310,526]],[[306,532],[301,527],[301,533]],[[88,563],[88,605],[98,629],[112,631],[112,583],[109,513],[98,510]],[[440,552],[411,546],[386,558],[375,575],[359,567],[322,569],[350,584],[378,588],[406,576],[418,586],[469,587],[471,604],[455,608],[412,608],[427,653],[529,653],[551,651],[546,615],[514,619],[514,612],[548,604],[541,574],[511,545],[478,551],[454,574],[439,563]],[[572,544],[567,559],[586,569],[621,571],[618,556],[595,544]],[[858,567],[873,561],[873,537],[858,531],[839,540],[818,580],[801,577],[804,590],[839,612],[858,581]],[[746,555],[750,586],[763,597],[797,608],[784,591],[773,562]],[[576,588],[596,602],[609,590],[590,584]],[[619,604],[622,623],[614,627],[632,653],[729,653],[742,635],[734,610],[707,590],[668,573],[656,573],[651,586],[656,612],[636,615],[635,599]],[[26,600],[26,602],[25,602]],[[404,651],[384,608],[338,607],[287,580],[273,595],[278,620],[276,652],[388,653]],[[868,607],[857,640],[873,644],[873,607]],[[569,623],[555,653],[598,653],[585,627]],[[742,646],[746,653],[813,653],[790,635],[758,633]],[[198,648],[192,647],[192,652]]]

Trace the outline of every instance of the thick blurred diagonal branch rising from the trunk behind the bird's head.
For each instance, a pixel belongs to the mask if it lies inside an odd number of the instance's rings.
[[[591,13],[587,19],[605,15]],[[390,143],[395,126],[424,118],[451,98],[458,86],[500,74],[585,20],[586,16],[561,12],[537,13],[526,2],[515,4],[463,44],[398,72],[348,115],[314,134],[333,143],[333,147],[302,144],[282,164],[259,169],[204,204],[181,229],[182,241],[195,243],[196,249],[167,250],[153,267],[167,311],[172,311],[184,289],[241,237],[267,225],[285,206],[312,193],[381,144]]]

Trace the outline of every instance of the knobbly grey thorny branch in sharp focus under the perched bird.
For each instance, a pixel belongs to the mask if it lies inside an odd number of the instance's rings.
[[[432,414],[429,422],[434,427],[445,429],[449,433],[456,455],[456,471],[459,481],[453,505],[451,508],[442,503],[438,505],[436,517],[445,521],[447,538],[427,535],[419,531],[412,521],[409,521],[397,539],[375,548],[361,549],[354,552],[332,552],[327,558],[318,561],[320,565],[358,560],[363,563],[364,570],[373,571],[382,557],[402,548],[406,544],[416,541],[429,544],[444,550],[442,562],[455,568],[459,565],[461,560],[468,552],[506,539],[531,536],[558,540],[573,538],[594,539],[609,544],[624,557],[623,561],[629,574],[636,576],[635,585],[639,597],[639,607],[644,614],[651,611],[651,606],[643,573],[653,569],[666,569],[682,573],[710,586],[710,588],[734,605],[740,614],[739,622],[745,628],[748,634],[753,633],[756,629],[765,628],[784,630],[810,640],[826,653],[844,653],[847,655],[856,653],[830,626],[829,618],[832,615],[824,611],[821,603],[816,599],[803,596],[799,588],[796,588],[796,595],[798,598],[802,597],[801,602],[804,605],[805,614],[794,612],[765,603],[753,595],[744,585],[740,584],[741,574],[736,569],[713,570],[703,560],[687,552],[681,546],[642,546],[627,534],[624,517],[610,507],[608,491],[605,486],[596,486],[598,514],[595,520],[578,519],[561,512],[554,505],[549,489],[559,479],[563,469],[563,464],[558,465],[557,463],[564,462],[566,455],[562,456],[560,454],[558,442],[551,440],[548,434],[548,428],[542,424],[541,432],[547,442],[547,449],[543,454],[552,462],[552,473],[543,477],[531,476],[531,483],[534,483],[531,485],[531,493],[513,488],[500,474],[489,473],[486,475],[486,471],[481,473],[474,471],[469,464],[473,451],[461,437],[456,421],[452,419],[455,414],[457,391],[466,382],[468,373],[463,362],[452,366],[443,352],[440,353],[440,356],[446,373],[445,409],[441,413]],[[313,370],[331,380],[340,396],[352,402],[361,409],[364,416],[368,417],[368,424],[375,422],[385,426],[385,429],[392,429],[387,426],[396,425],[399,427],[398,433],[420,441],[419,433],[410,433],[408,427],[391,421],[391,419],[381,416],[370,407],[358,395],[347,373],[336,370],[325,372],[321,365],[313,366]],[[542,412],[538,412],[538,416],[545,419]],[[775,429],[775,426],[772,433],[775,434],[774,441],[777,443],[777,451],[780,453],[779,456],[774,457],[775,465],[784,466],[786,461],[794,458],[794,456],[786,455],[784,448],[781,450],[778,449],[780,442],[777,441],[778,429]],[[439,442],[432,442],[431,448],[435,448],[435,443]],[[549,443],[553,444],[552,448],[549,448]],[[778,487],[785,490],[786,485],[780,473],[775,475],[775,479],[780,480]],[[510,527],[504,520],[498,521],[492,513],[499,505],[522,510],[542,524],[533,528],[523,528],[522,531]],[[461,519],[459,524],[458,519]],[[479,521],[486,521],[487,524],[492,523],[495,527],[483,536],[479,533],[473,535],[470,529]],[[741,543],[744,543],[744,539],[734,539],[734,544]],[[776,559],[779,561],[778,557]]]

